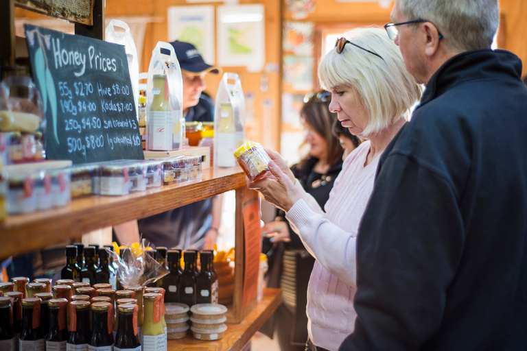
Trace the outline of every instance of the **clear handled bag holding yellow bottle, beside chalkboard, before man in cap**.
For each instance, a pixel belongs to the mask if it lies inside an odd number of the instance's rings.
[[[169,52],[166,54],[165,52]],[[183,78],[174,47],[157,43],[146,89],[146,149],[169,151],[183,144]]]

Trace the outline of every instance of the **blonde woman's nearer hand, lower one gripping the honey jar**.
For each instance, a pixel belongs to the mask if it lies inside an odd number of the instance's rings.
[[[294,183],[276,163],[270,161],[269,169],[271,174],[263,180],[251,182],[246,177],[247,187],[259,191],[272,206],[287,212],[301,197],[298,194],[298,190],[294,187]]]

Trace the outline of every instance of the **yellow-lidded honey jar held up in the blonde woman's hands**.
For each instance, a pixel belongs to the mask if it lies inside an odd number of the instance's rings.
[[[234,152],[239,167],[242,167],[251,181],[263,178],[269,170],[270,158],[259,143],[248,141]]]

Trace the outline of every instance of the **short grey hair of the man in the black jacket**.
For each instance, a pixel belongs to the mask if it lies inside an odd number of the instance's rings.
[[[400,0],[399,10],[434,23],[455,52],[489,49],[500,23],[498,0]]]

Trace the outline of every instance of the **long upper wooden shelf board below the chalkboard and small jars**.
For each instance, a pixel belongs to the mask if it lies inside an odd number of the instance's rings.
[[[12,215],[0,223],[1,239],[8,239],[0,246],[0,259],[78,237],[91,230],[162,213],[245,185],[245,173],[239,167],[205,169],[202,180],[125,196],[82,197],[65,207]]]

